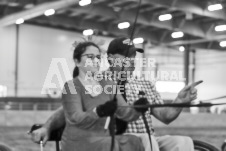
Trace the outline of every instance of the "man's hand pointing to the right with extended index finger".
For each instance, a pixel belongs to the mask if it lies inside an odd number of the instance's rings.
[[[203,81],[197,81],[190,85],[185,86],[177,96],[177,99],[181,100],[183,103],[189,103],[197,98],[197,89],[195,86],[199,85]]]

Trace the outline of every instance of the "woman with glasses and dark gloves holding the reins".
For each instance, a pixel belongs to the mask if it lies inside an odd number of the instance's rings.
[[[125,121],[133,121],[141,115],[139,109],[119,107],[128,106],[121,94],[117,94],[116,103],[113,101],[114,94],[104,91],[106,87],[111,89],[115,83],[91,78],[99,71],[100,56],[100,48],[93,42],[79,43],[74,49],[76,67],[73,80],[65,83],[62,95],[66,117],[62,151],[110,151],[111,137],[105,128],[107,117],[115,114]],[[95,91],[92,89],[94,87]],[[143,150],[136,136],[115,137],[114,151]]]

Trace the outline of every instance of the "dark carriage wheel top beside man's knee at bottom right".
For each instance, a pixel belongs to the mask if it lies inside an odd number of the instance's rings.
[[[193,142],[195,145],[195,151],[219,151],[218,148],[209,143],[205,143],[199,140],[193,140]]]

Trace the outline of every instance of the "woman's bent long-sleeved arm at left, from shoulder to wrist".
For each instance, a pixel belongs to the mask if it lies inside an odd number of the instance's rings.
[[[80,88],[69,81],[64,86],[62,95],[66,120],[81,128],[88,128],[99,118],[93,111],[83,111]]]

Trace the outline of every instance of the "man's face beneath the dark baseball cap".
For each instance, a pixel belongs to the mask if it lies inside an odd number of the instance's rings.
[[[111,70],[119,72],[124,66],[124,71],[129,71],[132,74],[135,70],[135,56],[135,53],[129,57],[125,57],[121,54],[109,54],[108,59],[110,60],[109,63]]]

